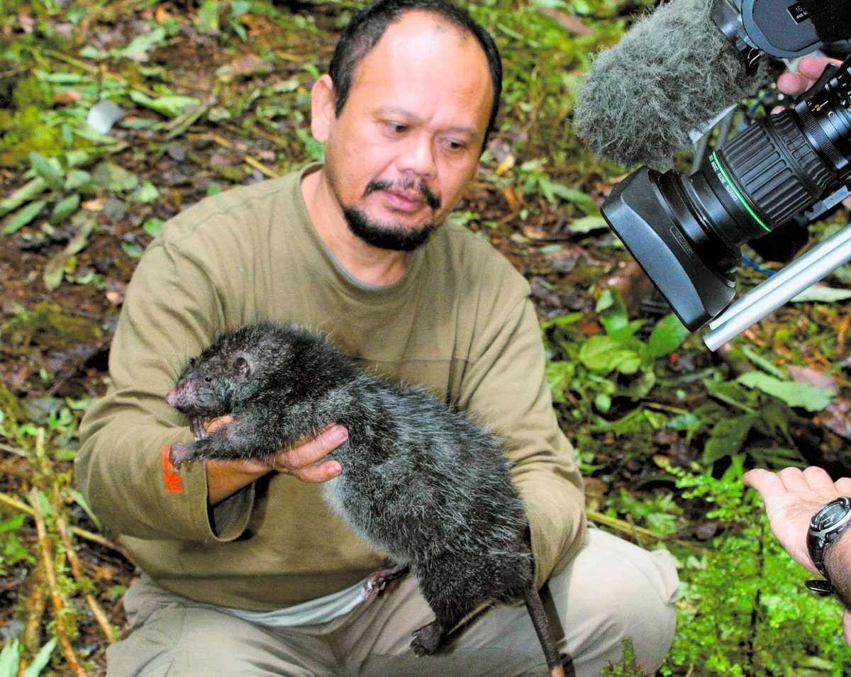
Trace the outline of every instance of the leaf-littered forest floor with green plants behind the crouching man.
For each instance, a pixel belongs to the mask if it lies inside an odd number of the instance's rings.
[[[19,640],[36,666],[48,646],[54,674],[102,674],[135,572],[89,515],[72,461],[79,420],[108,384],[125,290],[164,221],[321,159],[307,134],[310,88],[355,5],[11,5],[0,10],[0,643]],[[687,337],[599,215],[625,169],[568,127],[589,55],[637,7],[472,10],[503,52],[505,107],[453,219],[530,283],[591,520],[677,556],[681,629],[665,671],[843,674],[837,607],[780,601],[802,596],[805,575],[772,544],[740,474],[786,464],[848,474],[851,271],[717,354]],[[108,134],[85,124],[101,99],[126,113]],[[839,210],[800,229],[762,265],[779,268],[847,222]],[[761,279],[745,269],[740,288]],[[601,360],[613,351],[625,361]],[[738,587],[735,567],[749,572]],[[3,666],[0,677],[17,673]]]

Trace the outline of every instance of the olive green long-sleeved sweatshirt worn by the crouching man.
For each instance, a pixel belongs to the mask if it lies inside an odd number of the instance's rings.
[[[186,361],[226,329],[290,321],[505,436],[543,583],[579,549],[585,509],[527,282],[449,224],[395,284],[357,282],[311,224],[300,178],[315,168],[208,197],[147,248],[112,341],[111,384],[80,427],[77,481],[91,508],[145,572],[191,600],[270,611],[371,572],[382,554],[323,503],[321,485],[269,473],[209,509],[203,464],[174,472],[163,453],[191,441],[163,399]]]

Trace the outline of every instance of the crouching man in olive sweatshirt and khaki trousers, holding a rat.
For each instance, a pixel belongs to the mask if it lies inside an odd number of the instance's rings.
[[[486,242],[442,225],[477,172],[500,80],[493,40],[465,12],[434,0],[363,9],[312,90],[324,166],[203,200],[140,260],[77,461],[92,508],[145,572],[125,597],[132,633],[107,652],[109,674],[545,664],[523,606],[488,610],[449,651],[418,659],[411,632],[432,617],[414,578],[363,599],[382,557],[321,498],[321,483],[346,471],[323,461],[346,439],[339,426],[268,464],[171,468],[168,445],[191,433],[163,396],[217,333],[260,318],[328,333],[504,435],[568,664],[599,674],[629,638],[645,671],[659,667],[675,623],[671,556],[585,532],[528,284]]]

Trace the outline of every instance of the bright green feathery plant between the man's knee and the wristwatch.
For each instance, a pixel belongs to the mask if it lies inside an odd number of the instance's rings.
[[[721,536],[680,568],[677,635],[663,674],[844,674],[851,649],[841,608],[803,587],[809,574],[780,548],[737,455],[720,477],[671,468],[683,498],[705,503]]]

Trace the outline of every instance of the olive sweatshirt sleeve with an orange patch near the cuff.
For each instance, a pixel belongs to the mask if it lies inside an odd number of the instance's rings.
[[[189,357],[224,327],[224,301],[197,260],[156,241],[134,271],[112,339],[106,395],[80,426],[77,483],[116,534],[211,542],[237,538],[254,485],[208,509],[203,464],[166,462],[174,441],[191,441],[186,418],[164,397]]]

